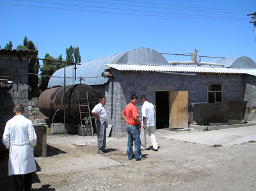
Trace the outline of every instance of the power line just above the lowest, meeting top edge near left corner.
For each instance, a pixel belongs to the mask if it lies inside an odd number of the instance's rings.
[[[221,17],[221,16],[211,16],[211,15],[191,15],[191,14],[167,13],[167,12],[159,12],[159,11],[132,10],[132,9],[125,9],[125,8],[112,8],[112,7],[109,8],[109,7],[102,7],[102,6],[88,6],[88,5],[79,5],[79,4],[49,3],[49,2],[44,2],[44,1],[29,1],[29,0],[15,0],[15,1],[24,1],[24,2],[30,2],[30,3],[44,3],[44,4],[57,4],[57,5],[64,5],[64,6],[102,8],[102,9],[111,9],[111,10],[138,11],[138,12],[143,12],[143,13],[161,13],[161,14],[168,14],[168,15],[186,15],[186,16],[196,16],[196,17],[214,17],[214,18],[248,20],[248,19],[237,18],[237,17]]]

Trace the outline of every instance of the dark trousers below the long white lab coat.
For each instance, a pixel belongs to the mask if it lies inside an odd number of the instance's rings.
[[[14,185],[16,190],[18,191],[29,191],[32,187],[33,173],[28,174],[15,174],[13,176]]]

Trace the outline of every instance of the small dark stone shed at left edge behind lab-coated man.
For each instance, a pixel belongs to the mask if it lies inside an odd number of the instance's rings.
[[[0,137],[3,137],[6,122],[11,119],[13,106],[22,103],[24,116],[28,118],[28,65],[37,57],[34,50],[0,50]],[[0,144],[4,149],[3,143]]]

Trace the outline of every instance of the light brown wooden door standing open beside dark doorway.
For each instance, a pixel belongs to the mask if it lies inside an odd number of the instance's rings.
[[[170,91],[171,128],[188,127],[188,91]]]

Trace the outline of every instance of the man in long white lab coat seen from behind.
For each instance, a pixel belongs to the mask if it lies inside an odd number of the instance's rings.
[[[33,154],[36,133],[32,122],[22,115],[22,104],[17,103],[13,112],[15,116],[7,121],[3,134],[3,143],[10,149],[9,176],[14,175],[16,190],[30,190],[33,172],[36,171]]]

